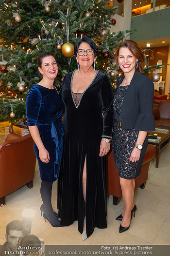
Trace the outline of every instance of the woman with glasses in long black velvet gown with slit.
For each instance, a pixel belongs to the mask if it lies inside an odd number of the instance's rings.
[[[85,239],[95,227],[106,228],[105,155],[113,126],[113,89],[108,77],[95,71],[97,46],[88,38],[74,49],[78,70],[65,76],[64,151],[58,179],[61,225],[78,220]],[[103,116],[102,116],[103,115]]]

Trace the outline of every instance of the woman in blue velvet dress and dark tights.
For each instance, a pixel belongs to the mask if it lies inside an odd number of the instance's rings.
[[[52,183],[58,178],[63,151],[64,129],[62,113],[64,104],[53,86],[58,73],[56,60],[50,52],[38,57],[38,71],[42,78],[28,92],[26,99],[27,122],[34,151],[38,159],[41,183],[41,212],[53,227],[59,227],[58,215],[51,205]]]

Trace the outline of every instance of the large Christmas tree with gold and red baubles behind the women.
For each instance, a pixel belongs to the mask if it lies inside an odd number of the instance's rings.
[[[57,60],[59,89],[63,77],[76,69],[74,44],[89,37],[98,45],[96,69],[113,84],[118,77],[115,51],[132,32],[110,32],[117,7],[107,0],[0,0],[0,80],[11,97],[0,99],[0,119],[26,118],[25,98],[39,81],[37,56],[52,52]],[[11,113],[12,112],[12,113]]]

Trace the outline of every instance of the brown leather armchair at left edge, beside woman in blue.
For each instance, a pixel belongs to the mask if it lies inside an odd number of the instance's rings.
[[[18,136],[10,133],[0,144],[0,205],[5,196],[27,185],[33,187],[36,156],[30,134]]]

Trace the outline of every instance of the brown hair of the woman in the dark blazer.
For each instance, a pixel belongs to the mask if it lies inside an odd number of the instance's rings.
[[[142,48],[140,48],[138,46],[138,44],[133,41],[133,40],[125,40],[124,42],[122,42],[118,49],[117,49],[117,53],[116,53],[116,65],[117,65],[117,68],[118,68],[118,65],[119,65],[119,61],[118,61],[118,56],[119,56],[119,49],[120,48],[128,48],[129,51],[135,56],[136,59],[138,59],[138,67],[136,68],[136,71],[138,73],[140,73],[143,69],[142,67],[142,62],[144,61],[145,57],[144,57],[144,51]],[[119,73],[121,75],[124,74],[124,72],[121,70],[121,69],[118,69],[119,70]]]

